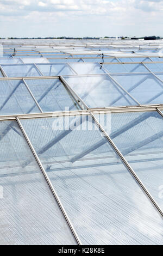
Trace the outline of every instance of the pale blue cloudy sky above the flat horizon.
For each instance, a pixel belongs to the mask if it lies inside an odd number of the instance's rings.
[[[163,0],[0,0],[0,37],[163,36]]]

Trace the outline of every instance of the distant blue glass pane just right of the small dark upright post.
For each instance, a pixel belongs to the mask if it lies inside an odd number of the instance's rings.
[[[132,73],[132,72],[149,72],[142,64],[105,64],[104,68],[109,73]]]

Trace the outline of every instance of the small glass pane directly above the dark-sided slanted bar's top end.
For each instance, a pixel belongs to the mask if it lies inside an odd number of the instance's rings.
[[[75,73],[71,70],[67,64],[48,64],[48,65],[37,65],[44,76],[61,76],[61,75],[74,75]]]

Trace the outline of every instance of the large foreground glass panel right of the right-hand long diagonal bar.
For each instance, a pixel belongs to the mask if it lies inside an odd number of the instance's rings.
[[[110,137],[163,210],[163,118],[158,112],[111,114]]]

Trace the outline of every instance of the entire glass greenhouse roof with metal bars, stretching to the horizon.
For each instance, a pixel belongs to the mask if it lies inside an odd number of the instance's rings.
[[[0,245],[161,245],[162,41],[0,43]]]

